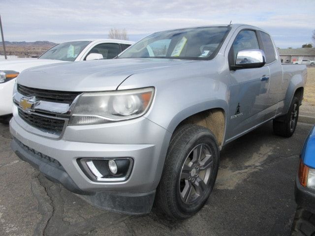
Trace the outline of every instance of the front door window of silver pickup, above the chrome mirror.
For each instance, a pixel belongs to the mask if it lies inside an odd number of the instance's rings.
[[[259,49],[256,33],[253,30],[242,30],[238,33],[232,45],[233,64],[239,51],[249,49]]]

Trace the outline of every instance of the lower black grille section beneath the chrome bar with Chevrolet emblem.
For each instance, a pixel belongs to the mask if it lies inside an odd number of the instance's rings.
[[[56,118],[47,118],[37,116],[35,114],[28,114],[18,109],[19,116],[31,126],[43,130],[45,132],[60,135],[63,131],[64,120]]]

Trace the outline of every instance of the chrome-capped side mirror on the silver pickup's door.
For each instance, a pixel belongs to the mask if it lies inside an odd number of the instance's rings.
[[[259,68],[266,63],[265,54],[262,50],[251,49],[238,51],[235,65],[232,69]]]

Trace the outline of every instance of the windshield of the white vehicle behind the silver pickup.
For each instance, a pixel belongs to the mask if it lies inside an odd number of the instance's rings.
[[[74,41],[58,44],[42,54],[40,59],[74,61],[91,41]]]

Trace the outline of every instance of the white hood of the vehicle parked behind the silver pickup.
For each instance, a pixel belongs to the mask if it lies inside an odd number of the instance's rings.
[[[0,70],[14,70],[21,73],[23,70],[33,67],[33,66],[60,63],[60,62],[64,62],[64,61],[50,60],[50,59],[35,59],[35,58],[1,60]]]

